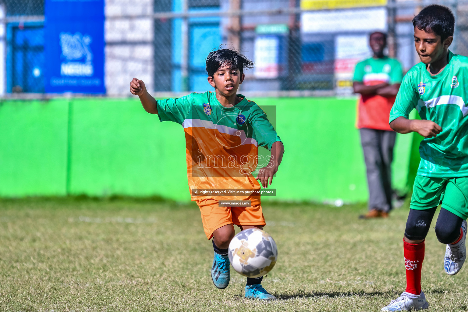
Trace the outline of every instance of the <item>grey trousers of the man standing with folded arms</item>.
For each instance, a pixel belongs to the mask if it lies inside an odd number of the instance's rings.
[[[369,210],[388,212],[392,209],[391,164],[395,131],[359,129],[366,162]]]

